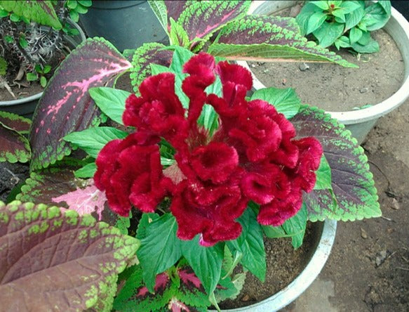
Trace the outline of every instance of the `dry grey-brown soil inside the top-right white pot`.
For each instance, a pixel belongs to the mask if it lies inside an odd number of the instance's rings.
[[[294,88],[303,103],[330,112],[375,105],[394,94],[403,80],[403,59],[393,39],[379,30],[373,38],[380,52],[356,56],[336,51],[359,68],[331,63],[249,63],[265,86]],[[307,82],[307,83],[306,83]]]

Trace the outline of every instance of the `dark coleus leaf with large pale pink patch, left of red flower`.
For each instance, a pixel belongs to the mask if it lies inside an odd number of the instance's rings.
[[[48,168],[32,172],[17,199],[35,204],[57,204],[79,214],[92,214],[96,219],[116,226],[119,216],[109,209],[105,193],[93,180],[75,178],[73,168]]]

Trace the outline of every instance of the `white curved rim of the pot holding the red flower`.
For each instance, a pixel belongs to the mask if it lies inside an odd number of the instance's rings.
[[[316,250],[314,254],[312,254],[307,266],[305,266],[304,270],[297,276],[297,278],[295,278],[295,280],[293,280],[293,282],[290,282],[290,284],[283,290],[267,299],[257,302],[256,304],[222,311],[273,312],[288,306],[288,304],[297,299],[302,292],[307,290],[309,285],[314,282],[321,272],[324,264],[326,264],[328,256],[330,255],[335,240],[337,221],[326,220],[323,223],[317,223],[317,226],[319,226],[321,235],[319,235],[319,240],[316,242]]]

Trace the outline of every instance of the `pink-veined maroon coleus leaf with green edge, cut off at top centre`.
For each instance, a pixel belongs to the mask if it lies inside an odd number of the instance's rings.
[[[167,29],[171,32],[170,18],[181,25],[190,41],[207,40],[221,27],[245,15],[250,1],[163,1],[167,13]],[[157,13],[156,13],[157,14]],[[190,46],[194,48],[195,43]]]

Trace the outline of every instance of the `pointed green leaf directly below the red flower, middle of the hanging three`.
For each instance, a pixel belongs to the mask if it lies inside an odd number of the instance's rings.
[[[180,247],[206,292],[211,294],[222,274],[224,244],[219,242],[213,247],[203,247],[199,245],[199,235],[196,235],[193,240],[181,240]]]

